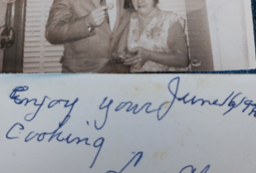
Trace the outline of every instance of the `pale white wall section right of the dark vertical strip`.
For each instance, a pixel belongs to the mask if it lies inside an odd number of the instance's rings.
[[[249,68],[244,2],[248,0],[208,0],[211,47],[216,70]]]

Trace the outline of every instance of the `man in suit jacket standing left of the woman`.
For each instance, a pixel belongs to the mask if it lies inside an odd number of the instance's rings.
[[[125,0],[55,0],[45,37],[64,44],[62,72],[128,72],[111,57],[126,49],[129,18]]]

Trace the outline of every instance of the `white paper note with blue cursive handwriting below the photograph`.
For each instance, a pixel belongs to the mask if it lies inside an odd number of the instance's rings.
[[[253,173],[254,78],[2,76],[0,172]]]

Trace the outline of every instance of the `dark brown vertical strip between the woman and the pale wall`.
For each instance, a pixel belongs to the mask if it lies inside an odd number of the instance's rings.
[[[206,0],[186,0],[186,9],[192,71],[213,71]]]

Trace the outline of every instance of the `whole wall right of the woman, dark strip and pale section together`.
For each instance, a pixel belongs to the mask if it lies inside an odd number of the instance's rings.
[[[160,0],[159,5],[185,19],[187,12],[190,55],[201,62],[193,70],[205,71],[254,68],[253,22],[244,4],[249,7],[250,0]]]

